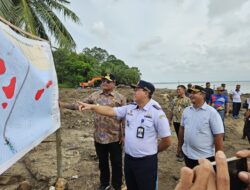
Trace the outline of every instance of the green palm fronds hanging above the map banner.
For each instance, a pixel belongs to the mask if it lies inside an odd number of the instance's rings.
[[[55,13],[79,23],[77,15],[65,6],[69,3],[67,0],[0,0],[0,15],[31,34],[54,39],[59,47],[74,49],[72,36]]]

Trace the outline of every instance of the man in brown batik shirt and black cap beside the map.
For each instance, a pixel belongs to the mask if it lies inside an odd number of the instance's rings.
[[[126,99],[123,95],[114,90],[115,77],[106,74],[102,77],[101,90],[92,93],[83,102],[95,105],[105,105],[109,107],[123,106]],[[60,104],[61,105],[61,104]],[[78,110],[78,105],[64,104],[62,107]],[[94,114],[94,141],[96,154],[99,160],[100,187],[98,190],[109,190],[110,169],[109,158],[112,168],[111,184],[114,190],[121,190],[122,185],[122,120],[116,117],[107,117]]]

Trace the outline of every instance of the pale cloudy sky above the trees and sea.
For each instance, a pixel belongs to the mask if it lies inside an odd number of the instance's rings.
[[[250,80],[250,0],[71,0],[77,51],[101,47],[152,82]]]

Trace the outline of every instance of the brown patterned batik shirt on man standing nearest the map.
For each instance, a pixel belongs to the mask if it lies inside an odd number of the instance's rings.
[[[126,99],[116,91],[109,94],[97,91],[84,99],[84,102],[115,107],[125,105]],[[96,142],[108,144],[120,140],[121,120],[116,117],[107,117],[94,113],[94,126],[94,139]]]

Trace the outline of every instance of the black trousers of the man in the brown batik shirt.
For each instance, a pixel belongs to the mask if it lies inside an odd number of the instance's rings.
[[[108,186],[110,181],[109,157],[112,168],[112,186],[120,189],[122,185],[122,147],[119,142],[100,144],[95,142],[99,159],[101,185]]]

